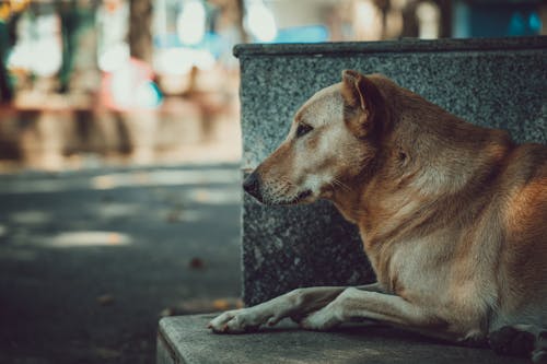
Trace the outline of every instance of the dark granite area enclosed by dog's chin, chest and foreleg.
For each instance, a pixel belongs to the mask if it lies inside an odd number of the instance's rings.
[[[327,201],[264,207],[244,198],[244,296],[254,305],[298,286],[373,281],[357,226]]]

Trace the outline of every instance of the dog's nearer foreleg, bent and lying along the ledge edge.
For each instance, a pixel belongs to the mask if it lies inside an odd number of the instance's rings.
[[[374,319],[433,332],[435,326],[443,324],[423,307],[399,296],[350,287],[324,308],[305,317],[301,326],[306,329],[327,330],[345,321],[361,319]],[[437,337],[444,338],[442,332]]]

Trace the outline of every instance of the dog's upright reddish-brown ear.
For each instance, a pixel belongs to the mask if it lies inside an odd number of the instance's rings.
[[[344,70],[341,94],[345,122],[358,138],[365,138],[374,128],[376,86],[365,75]]]

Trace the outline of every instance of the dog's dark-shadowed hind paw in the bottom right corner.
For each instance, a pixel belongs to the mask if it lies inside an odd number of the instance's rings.
[[[547,329],[533,325],[504,326],[489,334],[490,348],[502,355],[531,356],[547,363]]]

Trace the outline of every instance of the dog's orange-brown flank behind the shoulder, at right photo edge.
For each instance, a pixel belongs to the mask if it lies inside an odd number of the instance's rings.
[[[508,161],[500,193],[505,244],[498,266],[499,317],[492,324],[547,327],[547,148],[516,148]]]

